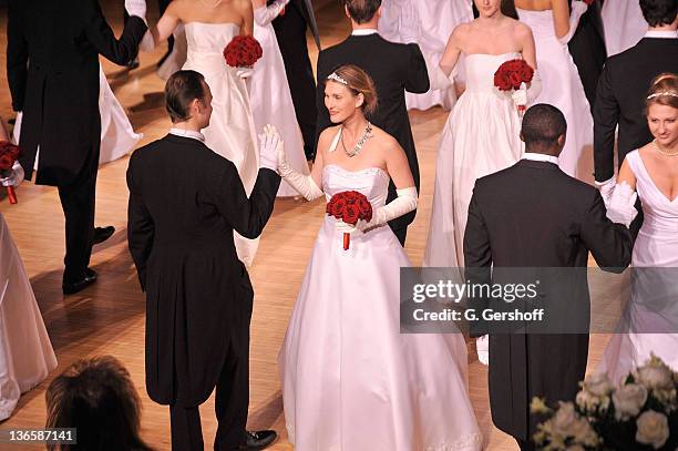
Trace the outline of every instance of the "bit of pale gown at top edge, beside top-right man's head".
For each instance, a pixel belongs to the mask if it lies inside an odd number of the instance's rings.
[[[638,0],[605,1],[600,16],[607,58],[636,45],[647,32]]]

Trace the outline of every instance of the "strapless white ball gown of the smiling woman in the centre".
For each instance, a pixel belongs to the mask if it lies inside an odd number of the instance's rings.
[[[389,175],[323,168],[322,188],[384,205]],[[297,451],[480,450],[461,334],[400,334],[400,267],[388,226],[351,237],[327,216],[299,290],[278,365],[285,421]]]

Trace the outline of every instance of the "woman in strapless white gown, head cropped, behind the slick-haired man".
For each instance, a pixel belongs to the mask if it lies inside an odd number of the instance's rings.
[[[249,1],[196,3],[174,0],[151,29],[154,44],[166,40],[183,23],[187,40],[187,59],[183,69],[202,73],[212,90],[213,114],[203,130],[205,144],[235,164],[249,195],[258,172],[258,151],[254,119],[245,76],[251,71],[226,64],[224,48],[238,34],[253,33],[253,10]],[[150,50],[150,49],[145,49]],[[235,234],[238,258],[251,265],[259,240]]]

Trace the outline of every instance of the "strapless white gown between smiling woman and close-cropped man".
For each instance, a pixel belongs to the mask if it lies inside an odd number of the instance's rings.
[[[464,229],[476,178],[504,170],[522,154],[521,121],[511,96],[494,88],[494,72],[520,53],[466,55],[466,90],[442,132],[423,266],[464,265]]]

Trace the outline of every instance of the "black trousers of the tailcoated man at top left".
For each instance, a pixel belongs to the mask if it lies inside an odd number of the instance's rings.
[[[99,143],[95,143],[93,152],[75,181],[69,185],[59,186],[59,199],[65,216],[64,283],[82,279],[90,265],[97,168]]]

